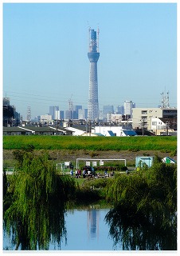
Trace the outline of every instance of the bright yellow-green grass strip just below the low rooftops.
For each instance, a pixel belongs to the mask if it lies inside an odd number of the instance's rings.
[[[75,137],[75,136],[4,136],[4,150],[20,150],[33,145],[35,150],[170,150],[177,149],[171,136]]]

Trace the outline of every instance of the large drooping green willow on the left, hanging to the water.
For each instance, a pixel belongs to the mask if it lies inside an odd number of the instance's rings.
[[[74,188],[72,179],[57,174],[48,156],[24,155],[14,176],[13,201],[4,214],[4,228],[13,233],[16,250],[48,250],[49,242],[61,246],[66,237],[65,202]]]

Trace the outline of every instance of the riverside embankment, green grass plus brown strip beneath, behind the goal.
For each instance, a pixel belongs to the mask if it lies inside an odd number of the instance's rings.
[[[70,136],[4,136],[3,161],[14,160],[14,150],[33,146],[35,154],[46,150],[56,162],[75,162],[76,158],[125,158],[132,165],[136,156],[177,158],[176,137],[70,137]]]

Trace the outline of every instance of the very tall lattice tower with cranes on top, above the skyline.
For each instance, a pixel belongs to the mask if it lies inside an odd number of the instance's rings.
[[[99,53],[99,30],[89,29],[89,52],[88,59],[90,62],[89,70],[89,90],[88,90],[88,120],[97,121],[99,119],[99,102],[98,102],[98,83],[97,83],[97,62],[100,57]]]

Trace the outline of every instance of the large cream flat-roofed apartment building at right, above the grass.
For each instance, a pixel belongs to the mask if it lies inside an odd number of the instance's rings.
[[[132,128],[145,128],[151,130],[152,118],[177,118],[176,108],[133,108]]]

